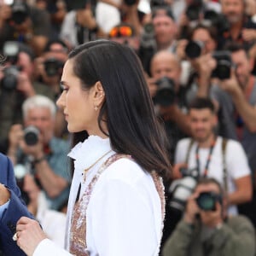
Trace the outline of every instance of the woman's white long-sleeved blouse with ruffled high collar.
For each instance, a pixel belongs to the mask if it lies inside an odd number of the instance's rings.
[[[106,154],[108,152],[108,154]],[[84,169],[92,166],[84,182]],[[90,136],[68,154],[75,172],[67,207],[66,249],[69,250],[73,206],[102,163],[114,154],[109,139]],[[102,172],[90,196],[86,212],[86,244],[90,256],[158,255],[162,235],[160,196],[153,178],[132,160],[119,159]],[[33,255],[71,255],[44,239]]]

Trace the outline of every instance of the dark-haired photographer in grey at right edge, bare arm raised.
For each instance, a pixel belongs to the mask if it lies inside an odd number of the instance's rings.
[[[230,130],[240,141],[248,158],[253,178],[253,201],[241,206],[241,212],[256,224],[254,205],[256,202],[255,171],[256,171],[256,79],[251,73],[253,60],[247,51],[239,44],[227,45],[231,52],[232,69],[230,79],[224,79],[216,86],[212,97],[218,102],[218,107],[224,115],[224,124],[230,125]]]

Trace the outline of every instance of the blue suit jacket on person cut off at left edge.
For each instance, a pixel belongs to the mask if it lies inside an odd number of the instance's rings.
[[[0,217],[0,251],[3,255],[26,255],[20,250],[12,237],[16,232],[16,223],[21,216],[32,218],[20,197],[20,189],[15,181],[15,173],[11,161],[0,153],[0,183],[9,188],[9,207]],[[1,254],[1,253],[0,253]]]

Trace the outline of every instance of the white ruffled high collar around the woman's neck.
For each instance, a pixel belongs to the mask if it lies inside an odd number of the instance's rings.
[[[86,169],[110,150],[109,138],[91,135],[83,143],[75,145],[67,155],[74,160],[75,169]]]

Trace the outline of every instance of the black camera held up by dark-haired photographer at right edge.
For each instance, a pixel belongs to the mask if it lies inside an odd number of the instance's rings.
[[[230,51],[218,50],[212,53],[212,57],[217,61],[217,67],[212,71],[212,78],[230,79],[232,67]]]

